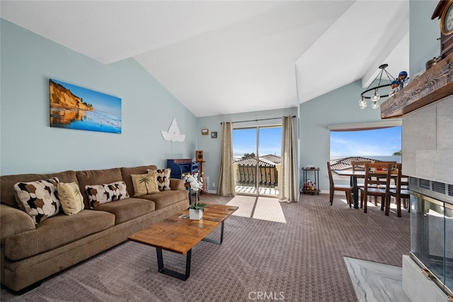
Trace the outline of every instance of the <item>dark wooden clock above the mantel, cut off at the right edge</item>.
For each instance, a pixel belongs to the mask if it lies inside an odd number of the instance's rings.
[[[441,0],[432,13],[431,20],[440,18],[440,57],[444,59],[453,51],[453,0]]]

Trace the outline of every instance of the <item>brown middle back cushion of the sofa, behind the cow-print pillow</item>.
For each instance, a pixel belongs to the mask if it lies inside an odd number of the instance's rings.
[[[90,208],[88,204],[88,194],[86,193],[86,190],[84,190],[86,185],[101,185],[103,183],[117,182],[123,179],[120,168],[76,171],[76,176],[79,181],[79,187],[81,188],[80,191],[84,196],[85,209]]]

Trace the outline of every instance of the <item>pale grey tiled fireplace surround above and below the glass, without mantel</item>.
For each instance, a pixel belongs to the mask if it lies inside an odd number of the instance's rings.
[[[403,173],[452,184],[453,95],[403,115]],[[403,290],[413,302],[449,301],[408,255],[403,256]]]

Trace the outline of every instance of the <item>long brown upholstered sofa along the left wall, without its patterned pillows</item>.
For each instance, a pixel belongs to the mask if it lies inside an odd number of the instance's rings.
[[[21,291],[127,240],[127,236],[189,207],[183,180],[171,179],[171,190],[134,197],[131,174],[144,174],[156,165],[105,170],[64,171],[52,174],[0,176],[1,284]],[[58,214],[38,224],[18,209],[13,185],[57,177],[76,182],[85,209],[74,215]],[[130,198],[89,209],[85,185],[124,180]]]

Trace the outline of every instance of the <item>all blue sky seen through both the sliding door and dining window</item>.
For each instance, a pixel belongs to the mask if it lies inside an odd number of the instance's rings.
[[[256,128],[234,129],[233,153],[256,153]],[[260,156],[281,154],[281,127],[260,128]],[[401,126],[384,129],[331,132],[331,157],[391,156],[401,151]]]

